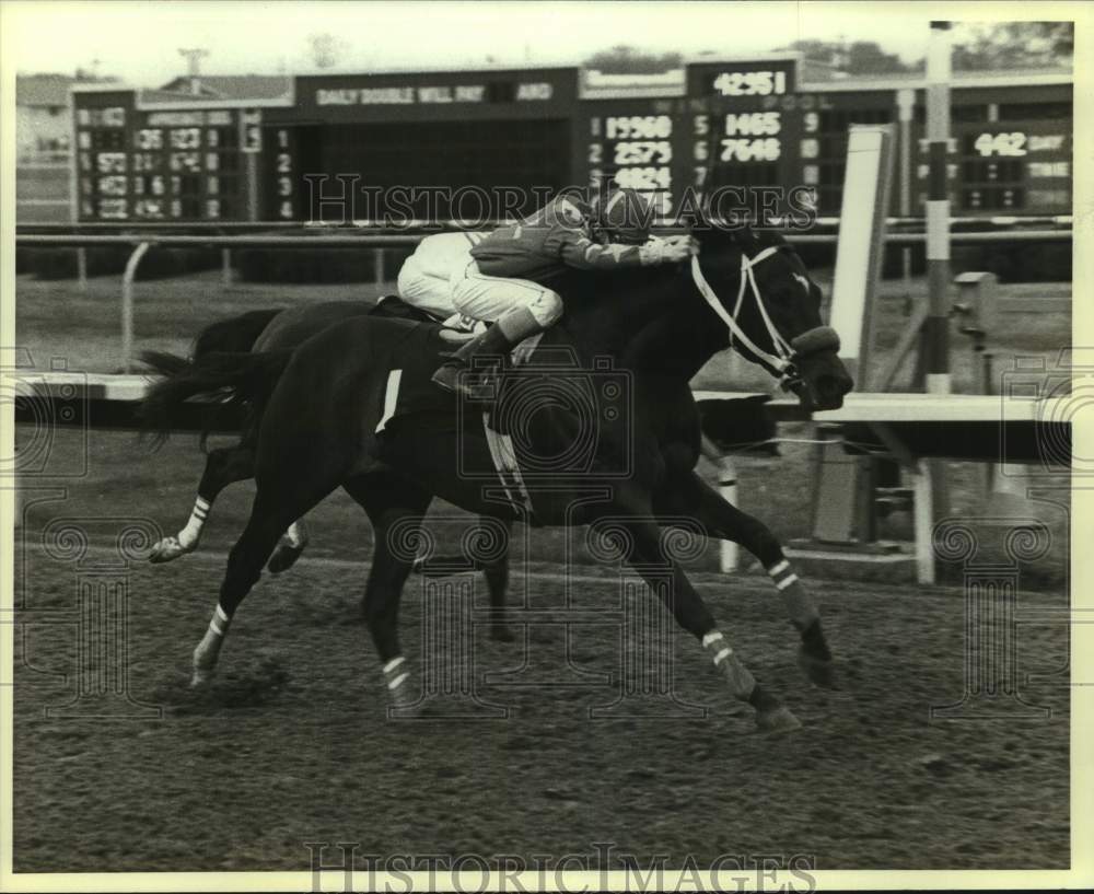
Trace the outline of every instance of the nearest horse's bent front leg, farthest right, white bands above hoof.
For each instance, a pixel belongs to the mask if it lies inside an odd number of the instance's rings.
[[[821,613],[771,530],[759,519],[730,503],[694,472],[686,480],[666,488],[665,492],[672,496],[664,506],[659,506],[659,510],[666,515],[678,511],[691,516],[708,535],[733,541],[759,559],[779,591],[791,623],[801,635],[799,664],[813,683],[830,688],[834,685],[831,651],[821,626]]]

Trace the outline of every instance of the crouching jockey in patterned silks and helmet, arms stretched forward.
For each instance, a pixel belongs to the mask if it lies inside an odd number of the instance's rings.
[[[592,206],[559,196],[531,218],[490,233],[453,274],[452,303],[457,312],[496,325],[445,360],[433,382],[461,391],[459,373],[474,358],[508,353],[551,326],[562,315],[562,299],[550,287],[574,268],[619,270],[690,257],[687,236],[651,236],[651,218],[639,193],[617,189]]]

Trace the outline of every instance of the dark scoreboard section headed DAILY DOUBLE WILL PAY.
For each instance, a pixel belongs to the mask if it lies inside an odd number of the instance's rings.
[[[532,213],[572,185],[577,109],[575,68],[298,78],[266,109],[261,216],[492,219],[505,190]]]

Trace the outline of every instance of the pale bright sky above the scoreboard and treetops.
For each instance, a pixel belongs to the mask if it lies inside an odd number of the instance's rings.
[[[323,32],[341,42],[333,70],[344,71],[569,65],[616,44],[740,56],[840,36],[876,40],[912,61],[924,54],[929,20],[950,18],[957,5],[2,0],[0,12],[14,47],[8,61],[20,73],[72,73],[98,60],[100,74],[152,86],[186,71],[178,49],[187,47],[209,51],[208,74],[313,72],[307,38]],[[1023,18],[1028,5],[1015,9]]]

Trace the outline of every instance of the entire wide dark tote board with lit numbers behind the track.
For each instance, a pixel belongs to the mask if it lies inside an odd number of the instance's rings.
[[[882,124],[899,136],[891,212],[922,216],[921,79],[804,80],[811,71],[796,56],[772,55],[702,59],[644,80],[575,68],[309,76],[294,79],[291,97],[208,107],[162,91],[81,89],[75,217],[383,220],[362,197],[399,185],[457,198],[462,188],[514,187],[532,198],[510,210],[531,213],[544,190],[605,184],[637,189],[663,213],[678,210],[688,190],[710,198],[736,189],[753,216],[759,197],[765,214],[836,217],[849,128]],[[955,80],[955,214],[1071,211],[1072,90],[1066,76]],[[773,198],[763,198],[767,190]],[[445,220],[472,219],[478,208],[447,198],[409,210]]]

